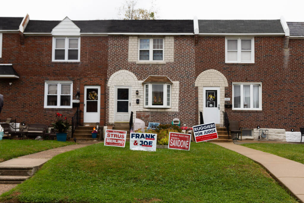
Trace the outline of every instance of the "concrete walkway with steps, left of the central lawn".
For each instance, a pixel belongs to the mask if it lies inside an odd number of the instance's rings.
[[[1,169],[11,169],[11,170],[21,170],[21,169],[35,169],[38,170],[44,163],[48,160],[52,159],[54,156],[68,152],[74,149],[79,149],[88,145],[96,144],[99,142],[82,142],[78,145],[68,145],[64,147],[58,147],[54,149],[49,149],[46,151],[29,154],[26,156],[20,156],[16,159],[10,159],[8,161],[4,161],[0,163],[0,170]],[[31,176],[32,174],[30,174]],[[1,176],[0,176],[1,177]],[[10,177],[9,177],[10,178]],[[0,178],[1,179],[1,178]],[[17,184],[0,184],[0,195],[11,190],[12,188],[16,187]]]

